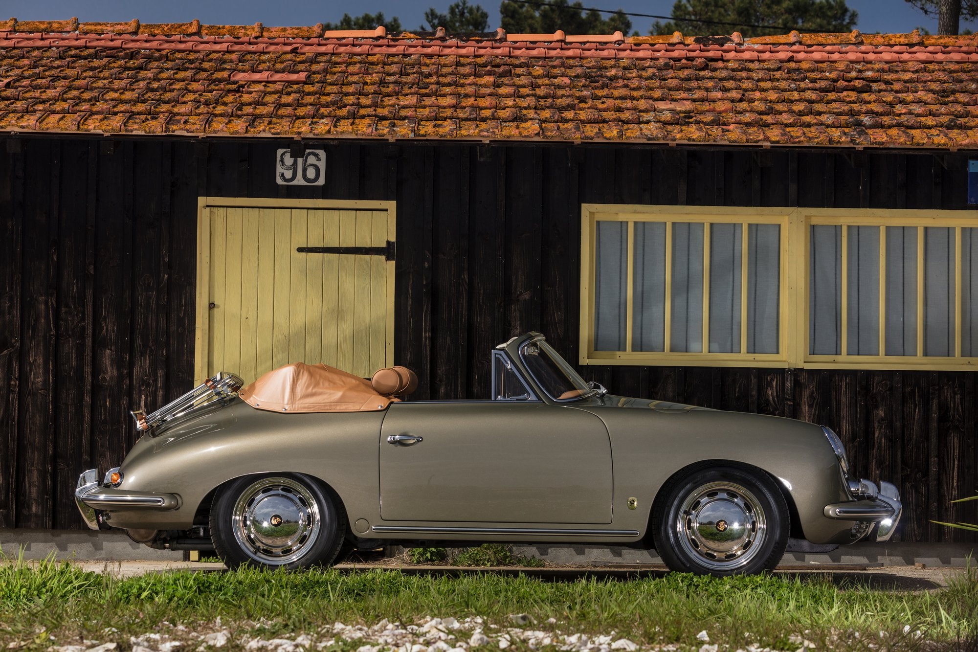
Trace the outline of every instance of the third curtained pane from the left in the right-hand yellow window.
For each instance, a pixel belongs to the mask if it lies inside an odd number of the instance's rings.
[[[886,355],[916,355],[916,227],[886,227]]]

